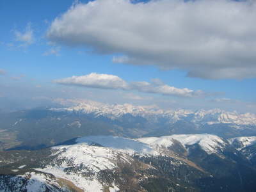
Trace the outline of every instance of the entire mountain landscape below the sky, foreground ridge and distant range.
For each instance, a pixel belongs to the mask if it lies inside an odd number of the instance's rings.
[[[255,114],[87,101],[0,122],[0,192],[256,189]]]

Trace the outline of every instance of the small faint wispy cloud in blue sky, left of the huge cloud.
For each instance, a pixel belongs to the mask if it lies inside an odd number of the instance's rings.
[[[26,29],[23,33],[20,32],[20,31],[15,30],[14,35],[15,35],[15,41],[22,43],[20,45],[21,47],[26,47],[26,46],[31,45],[35,42],[34,31],[31,28],[30,23],[27,24]]]

